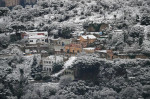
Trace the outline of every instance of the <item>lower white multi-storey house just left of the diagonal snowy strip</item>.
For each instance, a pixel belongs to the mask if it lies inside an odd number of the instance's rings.
[[[63,62],[63,56],[51,55],[42,59],[43,71],[51,73],[53,69],[53,64],[60,63],[60,62]]]

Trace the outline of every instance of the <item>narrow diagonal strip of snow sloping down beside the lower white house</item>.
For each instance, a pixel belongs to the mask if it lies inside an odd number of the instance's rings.
[[[65,62],[63,69],[60,72],[53,74],[52,77],[57,77],[61,73],[63,73],[67,68],[69,68],[73,64],[73,62],[76,60],[76,58],[77,57],[75,57],[75,56],[70,57],[69,60]]]

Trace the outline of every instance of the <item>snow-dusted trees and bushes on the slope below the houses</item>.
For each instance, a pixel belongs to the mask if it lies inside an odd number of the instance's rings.
[[[108,61],[99,59],[94,54],[81,55],[73,64],[74,68],[80,69],[77,74],[78,81],[72,81],[69,77],[61,78],[58,88],[53,88],[46,83],[45,86],[35,86],[34,83],[29,83],[25,67],[18,69],[18,76],[14,74],[13,72],[19,66],[17,64],[21,65],[24,61],[26,62],[26,59],[20,59],[15,56],[6,61],[1,60],[1,68],[3,68],[0,74],[1,99],[10,97],[11,99],[150,98],[149,59]],[[37,64],[34,57],[30,64],[32,66]],[[33,73],[32,69],[30,72]],[[96,73],[91,76],[92,72]]]

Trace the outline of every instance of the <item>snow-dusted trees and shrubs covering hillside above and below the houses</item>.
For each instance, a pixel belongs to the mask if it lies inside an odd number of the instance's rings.
[[[9,46],[20,40],[16,35],[21,30],[37,29],[70,38],[72,31],[84,30],[101,20],[99,23],[109,22],[112,30],[123,30],[121,34],[106,30],[105,48],[131,55],[140,49],[140,53],[150,55],[149,13],[149,0],[39,0],[33,7],[1,7],[0,50],[16,53],[0,58],[0,99],[149,99],[149,59],[108,61],[97,55],[79,55],[72,65],[78,80],[64,77],[58,88],[53,88],[49,83],[28,82],[31,77],[36,81],[52,79],[42,73],[39,56],[24,57],[17,47]],[[96,30],[98,27],[94,25]],[[54,66],[53,73],[62,69],[62,64]]]

